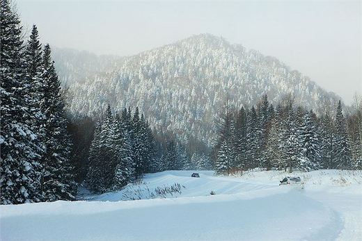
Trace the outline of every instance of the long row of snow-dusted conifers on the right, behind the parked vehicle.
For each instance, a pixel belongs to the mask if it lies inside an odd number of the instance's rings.
[[[247,169],[362,169],[362,101],[346,119],[339,101],[324,114],[294,106],[288,95],[274,106],[267,95],[237,112],[226,107],[212,158],[219,174]]]

